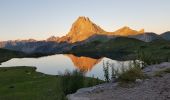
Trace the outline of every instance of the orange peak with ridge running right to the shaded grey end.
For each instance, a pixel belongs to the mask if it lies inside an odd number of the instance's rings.
[[[170,32],[165,32],[161,35],[156,33],[149,33],[145,32],[144,29],[139,31],[133,30],[127,26],[124,26],[114,32],[106,32],[101,27],[93,23],[88,17],[79,17],[72,25],[70,31],[66,36],[61,38],[52,36],[48,38],[48,41],[55,41],[55,42],[68,42],[68,43],[75,43],[84,40],[88,40],[94,36],[107,36],[107,37],[129,37],[129,38],[136,38],[141,41],[151,42],[155,39],[166,39],[170,40]],[[169,37],[169,38],[168,38]]]

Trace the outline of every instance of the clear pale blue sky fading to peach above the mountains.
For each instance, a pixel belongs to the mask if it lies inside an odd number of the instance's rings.
[[[0,0],[0,41],[64,36],[79,17],[106,31],[170,31],[170,0]]]

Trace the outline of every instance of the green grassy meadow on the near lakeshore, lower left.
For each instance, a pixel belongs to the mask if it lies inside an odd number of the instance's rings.
[[[36,72],[33,67],[0,68],[0,100],[65,100],[63,78]],[[92,81],[95,79],[86,78],[87,83]],[[96,84],[82,87],[92,85]]]

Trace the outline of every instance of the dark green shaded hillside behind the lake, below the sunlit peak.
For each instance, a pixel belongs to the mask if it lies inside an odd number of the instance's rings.
[[[143,42],[133,38],[118,37],[108,41],[92,41],[81,46],[75,46],[67,53],[78,56],[109,57],[118,60],[128,60],[137,57],[139,52],[153,55],[154,59],[167,60],[170,58],[170,41],[155,40]]]

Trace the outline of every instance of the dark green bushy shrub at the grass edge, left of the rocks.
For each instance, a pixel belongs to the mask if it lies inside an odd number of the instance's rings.
[[[61,86],[65,95],[74,93],[80,88],[103,83],[103,81],[98,78],[85,77],[84,74],[84,72],[79,70],[74,70],[72,72],[67,70],[64,74],[61,74]]]

